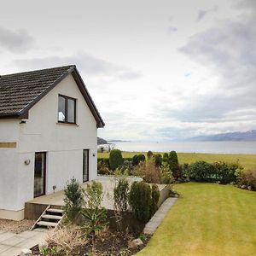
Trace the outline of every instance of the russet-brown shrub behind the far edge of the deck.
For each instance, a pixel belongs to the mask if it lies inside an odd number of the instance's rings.
[[[140,162],[134,172],[136,175],[143,177],[143,180],[147,183],[160,183],[160,172],[153,159]]]

